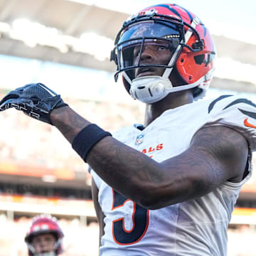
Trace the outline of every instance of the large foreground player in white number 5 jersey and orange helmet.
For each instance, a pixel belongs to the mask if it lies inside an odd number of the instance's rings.
[[[203,21],[176,4],[125,21],[111,59],[116,80],[146,104],[144,124],[112,135],[41,83],[10,92],[0,108],[53,124],[90,165],[100,255],[227,255],[231,213],[251,176],[255,104],[195,101],[213,76],[215,46]]]

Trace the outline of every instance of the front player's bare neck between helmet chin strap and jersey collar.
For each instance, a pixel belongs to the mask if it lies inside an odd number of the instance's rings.
[[[144,127],[148,126],[166,110],[171,110],[192,102],[193,94],[191,91],[186,90],[181,92],[172,92],[163,100],[146,105]]]

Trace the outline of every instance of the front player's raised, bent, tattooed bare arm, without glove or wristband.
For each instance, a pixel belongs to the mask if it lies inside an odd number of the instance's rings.
[[[62,109],[68,110],[58,117]],[[71,143],[90,124],[69,107],[54,110],[51,120]],[[224,181],[240,181],[247,155],[245,137],[215,126],[199,130],[186,151],[161,163],[110,136],[95,144],[86,161],[114,190],[156,209],[203,196]]]

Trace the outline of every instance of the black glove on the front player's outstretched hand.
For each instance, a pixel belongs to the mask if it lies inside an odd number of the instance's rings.
[[[0,111],[15,107],[30,117],[52,124],[50,112],[58,107],[68,106],[60,95],[50,90],[41,83],[28,84],[9,92],[0,101]]]

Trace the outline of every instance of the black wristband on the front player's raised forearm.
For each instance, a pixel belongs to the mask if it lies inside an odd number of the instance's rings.
[[[105,132],[96,124],[89,124],[75,136],[72,147],[85,161],[92,147],[106,136],[112,136],[112,134]]]

